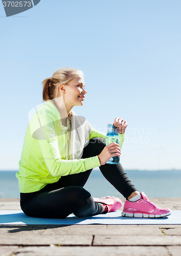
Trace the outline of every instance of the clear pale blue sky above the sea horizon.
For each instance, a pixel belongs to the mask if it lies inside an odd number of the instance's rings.
[[[124,169],[181,169],[181,2],[41,0],[6,17],[0,5],[0,170],[17,170],[41,82],[62,67],[84,72],[74,111],[106,132],[128,122]]]

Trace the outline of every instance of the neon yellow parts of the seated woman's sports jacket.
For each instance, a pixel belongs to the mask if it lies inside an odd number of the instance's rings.
[[[41,120],[44,119],[45,123],[48,123],[45,125],[44,136],[48,133],[53,134],[51,138],[39,140],[32,134],[32,127],[34,130],[38,130],[39,124],[35,118],[37,114],[41,114]],[[66,150],[64,147],[67,144],[67,133],[66,130],[59,129],[59,133],[61,133],[59,135],[62,136],[57,136],[57,120],[61,123],[56,106],[47,102],[38,109],[28,124],[19,161],[19,171],[16,173],[21,193],[38,191],[48,183],[57,182],[61,176],[85,172],[85,170],[100,166],[98,156],[66,160],[63,152]],[[105,133],[92,127],[88,140],[96,137],[105,139],[105,136]],[[119,134],[119,136],[121,148],[125,133]]]

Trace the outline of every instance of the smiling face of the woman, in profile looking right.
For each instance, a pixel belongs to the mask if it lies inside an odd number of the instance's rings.
[[[83,105],[84,95],[87,91],[84,89],[84,78],[75,77],[64,87],[64,103],[66,106],[81,106]]]

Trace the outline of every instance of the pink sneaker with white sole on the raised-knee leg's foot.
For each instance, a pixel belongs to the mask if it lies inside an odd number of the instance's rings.
[[[123,217],[161,218],[171,214],[168,208],[161,208],[153,204],[142,192],[141,199],[135,202],[126,200],[122,211]]]

